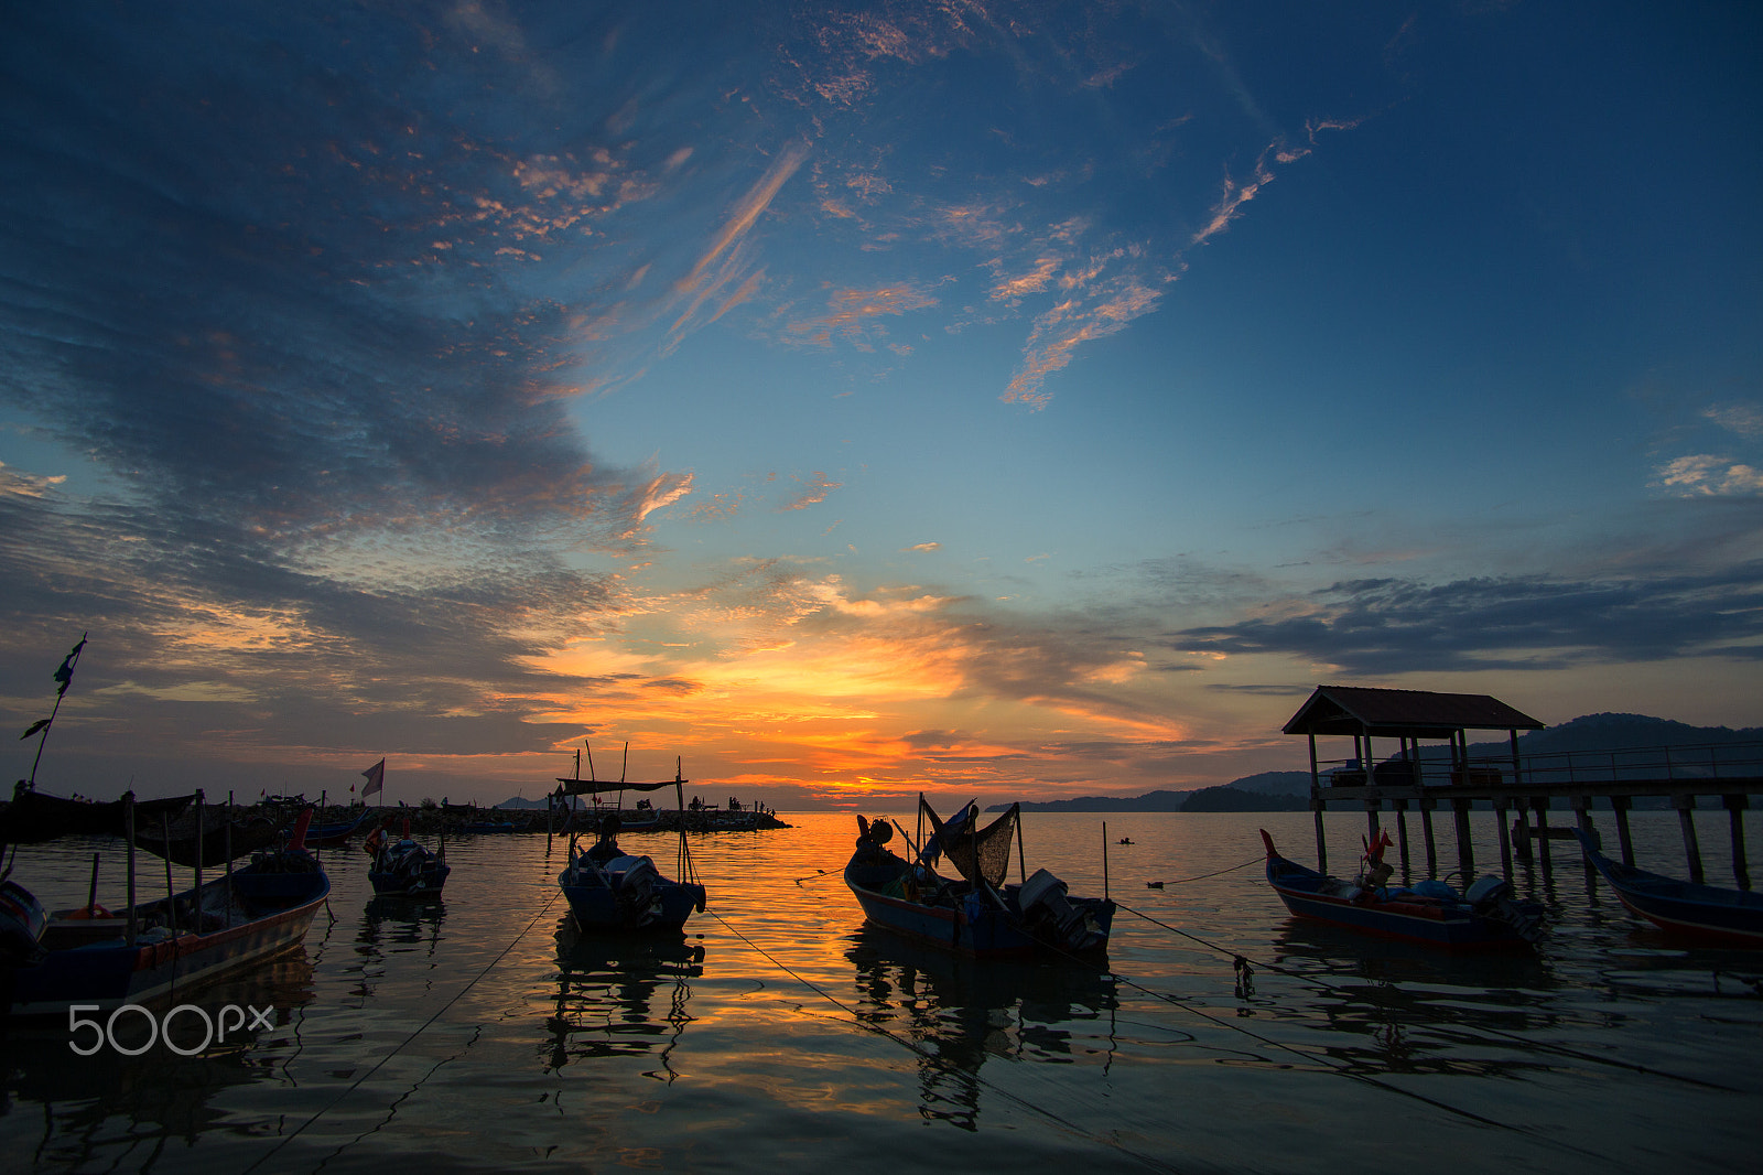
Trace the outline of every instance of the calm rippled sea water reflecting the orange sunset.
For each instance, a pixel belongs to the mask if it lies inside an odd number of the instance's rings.
[[[0,1044],[4,1168],[1604,1173],[1747,1170],[1763,1143],[1763,951],[1643,928],[1564,845],[1516,879],[1543,947],[1454,958],[1287,919],[1255,829],[1310,861],[1308,813],[1028,815],[1030,870],[1077,893],[1102,889],[1104,819],[1135,842],[1109,847],[1132,912],[1104,974],[864,930],[837,877],[855,820],[785,819],[693,838],[710,914],[673,937],[577,935],[543,836],[450,842],[430,907],[372,900],[365,854],[328,850],[305,949],[182,997],[273,1027],[189,1059]],[[1731,884],[1726,813],[1698,819]],[[1634,826],[1641,864],[1685,872],[1673,813]],[[1329,817],[1338,870],[1363,827]],[[626,838],[668,872],[673,843]],[[26,850],[18,877],[83,902],[93,847]]]

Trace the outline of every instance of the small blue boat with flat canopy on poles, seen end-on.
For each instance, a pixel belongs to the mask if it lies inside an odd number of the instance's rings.
[[[592,778],[559,778],[557,783],[566,796],[601,789]],[[673,778],[663,783],[626,783],[621,780],[615,787],[636,792],[672,787],[684,801],[684,785],[686,780],[675,771]],[[614,785],[606,783],[605,787],[612,789]],[[677,880],[665,877],[652,857],[626,854],[619,849],[621,831],[619,815],[606,813],[599,820],[598,840],[591,847],[582,849],[577,834],[569,834],[569,864],[557,875],[557,884],[562,887],[562,896],[569,902],[569,914],[580,930],[679,930],[693,910],[703,912],[709,894],[691,864],[684,827],[679,829]]]

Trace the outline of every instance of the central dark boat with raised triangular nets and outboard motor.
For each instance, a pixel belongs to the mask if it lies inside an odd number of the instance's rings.
[[[919,812],[933,833],[913,859],[894,854],[894,824],[857,817],[857,850],[844,864],[864,919],[933,947],[975,958],[1037,958],[1100,954],[1107,949],[1114,903],[1074,898],[1063,880],[1035,870],[1007,886],[1010,845],[1021,854],[1021,805],[1010,805],[984,829],[978,805],[966,805],[947,824],[919,797]],[[901,829],[901,840],[906,840]],[[957,877],[936,872],[938,859]]]

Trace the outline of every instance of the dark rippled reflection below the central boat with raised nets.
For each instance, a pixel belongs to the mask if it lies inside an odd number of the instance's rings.
[[[876,926],[852,935],[857,1014],[919,1053],[919,1113],[978,1129],[980,1066],[1114,1055],[1114,977],[1077,962],[980,962]]]

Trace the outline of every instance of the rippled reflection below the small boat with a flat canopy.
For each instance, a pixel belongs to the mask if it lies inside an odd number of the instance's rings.
[[[691,984],[703,974],[703,946],[679,932],[582,933],[573,917],[557,926],[555,1009],[545,1020],[547,1071],[596,1057],[656,1057],[647,1073],[672,1083],[673,1048],[693,1016]]]

